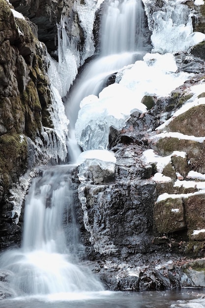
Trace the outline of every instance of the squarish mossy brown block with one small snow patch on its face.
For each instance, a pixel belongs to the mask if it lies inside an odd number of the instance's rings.
[[[169,234],[186,227],[181,198],[156,202],[153,211],[154,226],[159,234]]]

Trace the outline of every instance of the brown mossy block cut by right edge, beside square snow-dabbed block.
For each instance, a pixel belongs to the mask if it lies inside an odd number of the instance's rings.
[[[205,232],[192,235],[194,230],[205,229],[205,194],[197,194],[184,199],[187,234],[190,240],[204,241]]]

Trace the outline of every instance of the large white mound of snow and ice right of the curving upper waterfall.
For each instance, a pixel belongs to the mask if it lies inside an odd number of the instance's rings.
[[[116,83],[103,89],[99,98],[95,95],[84,98],[75,125],[76,139],[82,149],[107,149],[110,126],[119,130],[132,112],[146,112],[141,103],[145,95],[168,96],[192,76],[176,70],[173,55],[146,54],[144,61],[121,69]]]

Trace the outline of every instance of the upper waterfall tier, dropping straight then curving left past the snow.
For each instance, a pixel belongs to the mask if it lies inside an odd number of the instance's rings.
[[[142,47],[143,17],[141,0],[109,0],[104,6],[99,55],[85,65],[66,103],[66,114],[70,121],[68,148],[71,161],[76,161],[80,154],[80,150],[76,151],[74,129],[82,99],[90,94],[98,95],[110,75],[142,59],[145,54]]]

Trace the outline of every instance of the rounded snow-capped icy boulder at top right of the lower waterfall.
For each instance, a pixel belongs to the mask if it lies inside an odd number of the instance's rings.
[[[78,178],[81,183],[103,184],[115,177],[116,157],[107,150],[90,150],[79,155]]]

